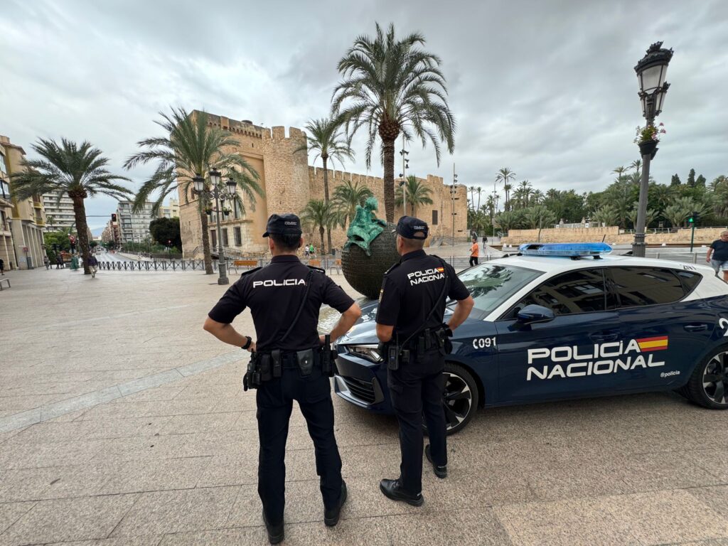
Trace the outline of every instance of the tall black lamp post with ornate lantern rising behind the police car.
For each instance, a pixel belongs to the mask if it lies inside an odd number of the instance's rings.
[[[673,50],[666,50],[662,42],[652,44],[646,55],[635,66],[637,81],[639,82],[639,98],[642,103],[642,115],[646,119],[646,127],[653,127],[654,118],[660,115],[665,94],[670,84],[665,82],[668,64],[673,57]],[[639,186],[639,202],[637,206],[637,223],[635,226],[635,241],[632,245],[632,255],[644,258],[645,220],[647,214],[647,191],[649,189],[649,163],[654,154],[657,154],[657,141],[649,140],[639,143],[642,156],[642,178]]]

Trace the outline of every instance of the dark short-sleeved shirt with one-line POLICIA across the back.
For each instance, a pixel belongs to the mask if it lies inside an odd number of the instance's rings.
[[[245,307],[250,307],[256,326],[256,351],[274,349],[300,351],[320,347],[317,325],[319,309],[328,304],[343,313],[354,304],[330,277],[314,271],[309,294],[298,323],[280,343],[296,317],[306,290],[306,277],[312,270],[297,256],[274,256],[269,266],[242,274],[208,313],[218,323],[232,323]]]

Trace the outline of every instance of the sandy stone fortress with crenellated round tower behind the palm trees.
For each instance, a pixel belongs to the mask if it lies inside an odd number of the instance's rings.
[[[201,112],[193,111],[191,115]],[[217,248],[220,235],[223,247],[229,256],[243,256],[248,253],[265,253],[268,250],[266,240],[262,237],[266,221],[274,213],[300,213],[310,199],[323,199],[323,169],[309,167],[308,155],[304,151],[296,151],[305,146],[306,135],[296,127],[289,127],[288,136],[285,127],[259,127],[248,120],[237,121],[224,116],[207,114],[207,122],[212,127],[229,131],[238,141],[238,146],[226,151],[236,151],[245,157],[260,175],[260,184],[265,191],[264,197],[258,197],[252,205],[247,197],[242,197],[246,214],[241,210],[233,210],[227,217],[221,215],[221,232],[216,233],[215,214],[210,215],[210,245],[213,252]],[[360,182],[368,186],[379,201],[379,217],[384,218],[384,181],[379,177],[328,171],[329,197],[344,181]],[[446,237],[452,232],[452,200],[451,186],[445,186],[443,179],[427,175],[422,179],[432,193],[432,205],[419,207],[416,214],[430,223],[432,237]],[[395,184],[397,182],[395,181]],[[455,236],[461,240],[467,237],[467,190],[465,186],[456,186],[455,202]],[[254,207],[254,208],[253,208]],[[408,213],[412,213],[408,210]],[[402,207],[395,209],[395,221],[402,215]],[[197,196],[185,195],[180,191],[180,229],[182,251],[185,258],[202,258],[201,225]],[[346,232],[337,227],[331,232],[333,245],[341,248],[346,241]],[[318,232],[306,233],[306,243],[312,242],[320,246]]]

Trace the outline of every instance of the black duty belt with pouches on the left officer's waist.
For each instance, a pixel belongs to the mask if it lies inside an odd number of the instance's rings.
[[[316,366],[321,368],[325,376],[333,377],[335,366],[333,360],[336,352],[329,349],[331,340],[325,337],[324,347],[304,349],[302,351],[254,352],[250,356],[248,371],[242,379],[243,390],[257,389],[261,384],[280,378],[284,369],[298,369],[302,376],[309,376]]]

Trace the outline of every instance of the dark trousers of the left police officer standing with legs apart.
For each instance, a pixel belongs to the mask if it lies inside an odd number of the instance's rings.
[[[297,368],[284,368],[282,377],[261,384],[256,393],[258,405],[258,495],[268,523],[283,521],[285,507],[285,442],[288,421],[298,402],[314,441],[316,473],[325,508],[333,508],[341,496],[341,457],[333,435],[331,382],[321,368],[308,377]]]

